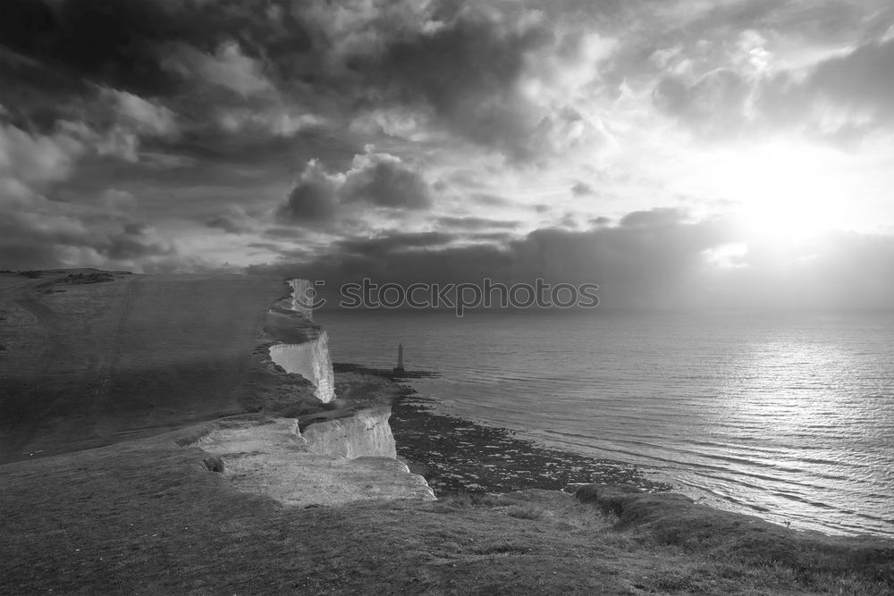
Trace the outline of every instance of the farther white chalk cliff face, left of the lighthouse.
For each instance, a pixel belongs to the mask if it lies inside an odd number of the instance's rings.
[[[287,373],[300,374],[314,384],[316,397],[327,403],[335,399],[329,336],[313,323],[308,300],[312,287],[307,280],[290,280],[291,296],[277,300],[267,312],[266,332],[277,343],[269,348],[270,359]]]

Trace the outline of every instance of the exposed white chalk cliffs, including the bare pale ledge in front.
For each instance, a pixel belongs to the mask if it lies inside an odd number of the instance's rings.
[[[310,283],[291,280],[291,297],[268,311],[270,358],[287,373],[312,382],[316,397],[335,399],[325,330],[312,323],[304,298]],[[302,433],[295,418],[224,418],[195,446],[219,459],[209,469],[244,491],[287,505],[338,505],[367,499],[434,500],[426,479],[399,461],[387,405],[356,411],[328,410]],[[305,422],[308,422],[305,421]],[[206,460],[207,461],[207,460]],[[206,464],[207,465],[207,464]]]

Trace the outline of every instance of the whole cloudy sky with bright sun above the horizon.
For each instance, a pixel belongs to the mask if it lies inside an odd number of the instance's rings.
[[[890,0],[4,0],[0,268],[894,305]]]

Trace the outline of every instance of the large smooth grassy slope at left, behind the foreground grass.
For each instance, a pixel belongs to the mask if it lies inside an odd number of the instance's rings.
[[[266,308],[244,275],[0,274],[0,462],[173,430],[243,409]]]

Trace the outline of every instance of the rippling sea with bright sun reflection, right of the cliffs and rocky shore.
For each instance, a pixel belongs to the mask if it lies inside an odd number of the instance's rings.
[[[714,507],[894,536],[894,312],[316,313],[333,361]]]

